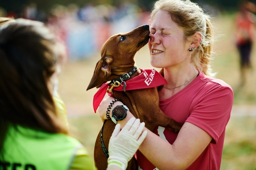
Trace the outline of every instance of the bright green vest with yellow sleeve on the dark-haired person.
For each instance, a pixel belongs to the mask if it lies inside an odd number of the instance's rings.
[[[83,145],[64,134],[10,126],[3,151],[0,170],[95,169]]]

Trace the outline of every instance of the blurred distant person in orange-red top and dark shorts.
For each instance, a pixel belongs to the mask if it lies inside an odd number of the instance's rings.
[[[241,85],[246,82],[246,72],[251,68],[251,51],[255,39],[255,4],[242,1],[235,16],[235,42],[240,57]]]

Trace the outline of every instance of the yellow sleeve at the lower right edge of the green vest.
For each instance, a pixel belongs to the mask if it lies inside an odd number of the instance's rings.
[[[77,150],[76,157],[70,166],[70,170],[97,170],[97,168],[95,168],[92,158],[83,147]]]

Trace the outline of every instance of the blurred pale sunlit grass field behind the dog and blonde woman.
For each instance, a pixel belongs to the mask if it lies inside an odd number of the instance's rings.
[[[233,115],[226,128],[220,169],[254,170],[256,168],[256,46],[254,45],[251,56],[253,68],[248,71],[244,86],[240,86],[239,58],[233,41],[232,20],[233,15],[214,19],[217,41],[212,69],[217,73],[216,78],[224,80],[232,87],[235,106],[243,108],[250,106],[254,110],[250,110],[253,112],[251,116],[246,116],[248,109],[232,110]],[[97,53],[89,59],[67,63],[59,80],[59,94],[68,110],[71,133],[85,145],[91,156],[102,122],[92,108],[92,98],[97,89],[86,91],[86,88],[99,59],[100,54]],[[135,59],[138,67],[152,68],[147,46],[137,52]]]

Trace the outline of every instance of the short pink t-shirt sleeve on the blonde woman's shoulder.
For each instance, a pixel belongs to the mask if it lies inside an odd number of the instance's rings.
[[[207,88],[206,88],[207,89]],[[216,83],[198,96],[197,103],[185,122],[190,122],[206,131],[216,144],[228,124],[233,104],[233,91],[229,86]]]

